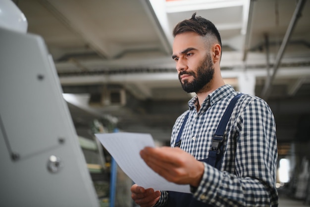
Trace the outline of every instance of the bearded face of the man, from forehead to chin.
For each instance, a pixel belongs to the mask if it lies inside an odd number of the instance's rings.
[[[214,67],[205,40],[194,32],[178,34],[173,56],[179,80],[186,92],[199,92],[213,78]]]

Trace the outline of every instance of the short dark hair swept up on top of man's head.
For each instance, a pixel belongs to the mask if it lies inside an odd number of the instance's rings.
[[[174,27],[173,37],[184,32],[195,32],[203,37],[209,35],[216,37],[218,44],[222,47],[221,36],[214,24],[201,16],[196,16],[196,12],[193,13],[192,18],[185,19]]]

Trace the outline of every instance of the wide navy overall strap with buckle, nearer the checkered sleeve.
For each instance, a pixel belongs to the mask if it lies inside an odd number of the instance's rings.
[[[217,169],[220,168],[220,164],[223,159],[223,140],[224,140],[224,134],[225,134],[227,123],[237,103],[237,100],[242,95],[243,94],[240,93],[236,95],[235,97],[233,97],[233,99],[230,101],[226,111],[224,112],[222,119],[220,120],[217,126],[215,134],[212,138],[212,145],[209,150],[209,156],[208,156],[208,164],[210,164],[213,167],[216,167]]]

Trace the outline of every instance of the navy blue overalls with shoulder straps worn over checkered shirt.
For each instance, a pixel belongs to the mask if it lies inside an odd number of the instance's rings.
[[[242,93],[236,95],[229,103],[224,115],[219,122],[216,132],[212,138],[212,145],[209,150],[209,156],[207,159],[200,160],[206,162],[207,164],[215,167],[220,170],[222,159],[223,159],[223,140],[224,132],[227,126],[228,120],[230,119],[231,113],[237,103],[237,100],[240,98]],[[174,147],[179,147],[181,145],[181,135],[185,123],[188,119],[189,112],[186,114],[184,121],[182,123],[181,129],[179,131],[178,137],[176,138]],[[193,194],[180,193],[174,191],[168,191],[168,207],[212,207],[206,203],[198,201],[193,198]]]

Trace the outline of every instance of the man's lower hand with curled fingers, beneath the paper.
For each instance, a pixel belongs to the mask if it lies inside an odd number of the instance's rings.
[[[131,198],[140,207],[153,207],[159,200],[160,191],[154,191],[153,188],[144,189],[137,184],[131,186]]]

